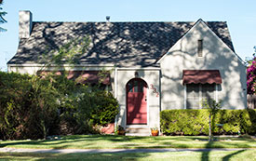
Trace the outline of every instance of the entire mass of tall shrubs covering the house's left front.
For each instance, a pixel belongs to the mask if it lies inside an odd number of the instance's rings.
[[[64,75],[0,73],[2,140],[91,133],[95,124],[114,122],[117,109],[112,94]]]

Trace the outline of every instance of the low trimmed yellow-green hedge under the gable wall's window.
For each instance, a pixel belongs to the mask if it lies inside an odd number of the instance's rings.
[[[161,130],[166,135],[209,135],[209,111],[164,110]],[[213,134],[256,134],[256,110],[218,110],[211,117]],[[216,124],[223,124],[222,127]]]

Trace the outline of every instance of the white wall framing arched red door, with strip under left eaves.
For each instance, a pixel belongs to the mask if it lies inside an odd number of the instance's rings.
[[[59,68],[58,70],[66,71],[98,71],[98,70],[109,70],[111,72],[111,91],[114,93],[115,98],[119,101],[120,104],[120,113],[116,117],[116,124],[121,125],[122,127],[126,127],[126,85],[128,81],[132,78],[135,78],[135,72],[139,74],[139,78],[143,79],[147,85],[147,109],[148,109],[148,125],[147,127],[158,127],[160,124],[160,93],[159,96],[156,97],[156,93],[151,88],[151,85],[154,85],[157,92],[160,91],[160,69],[122,69],[116,68],[114,66],[77,66],[77,67],[69,67],[63,66],[63,68]],[[20,74],[36,74],[37,71],[41,71],[42,66],[39,65],[8,65],[8,72],[17,72]],[[51,67],[47,69],[48,71],[56,71],[57,68]],[[116,91],[116,92],[115,92]]]

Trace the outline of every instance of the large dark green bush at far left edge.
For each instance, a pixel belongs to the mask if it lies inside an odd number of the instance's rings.
[[[0,73],[0,138],[43,138],[57,116],[55,93],[47,79]]]

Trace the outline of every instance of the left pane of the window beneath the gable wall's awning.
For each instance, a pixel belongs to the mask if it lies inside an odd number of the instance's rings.
[[[187,108],[198,109],[199,108],[199,85],[188,84],[187,85]]]

